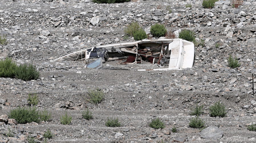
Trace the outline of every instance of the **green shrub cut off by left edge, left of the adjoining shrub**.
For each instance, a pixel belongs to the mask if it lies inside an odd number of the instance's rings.
[[[2,78],[14,78],[15,69],[17,64],[9,59],[8,57],[5,60],[0,60],[0,77]]]

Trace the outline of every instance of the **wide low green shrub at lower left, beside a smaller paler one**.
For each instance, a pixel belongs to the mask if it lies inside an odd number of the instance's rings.
[[[11,109],[9,113],[10,119],[15,119],[20,124],[30,123],[30,122],[40,122],[40,112],[34,107],[20,107],[16,109]]]

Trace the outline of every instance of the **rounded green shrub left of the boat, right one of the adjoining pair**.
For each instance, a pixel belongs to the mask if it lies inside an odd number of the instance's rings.
[[[16,68],[15,76],[16,78],[24,81],[37,80],[40,76],[40,73],[36,70],[36,66],[33,66],[33,64],[24,63]]]

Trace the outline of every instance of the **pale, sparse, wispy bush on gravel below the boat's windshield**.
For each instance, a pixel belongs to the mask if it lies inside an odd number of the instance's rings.
[[[88,91],[87,101],[93,104],[98,104],[104,99],[104,93],[103,91],[99,90],[89,90]]]

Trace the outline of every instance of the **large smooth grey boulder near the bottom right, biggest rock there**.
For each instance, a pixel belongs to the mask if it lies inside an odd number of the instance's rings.
[[[215,140],[223,136],[223,131],[216,126],[209,126],[203,129],[199,135],[202,136],[202,138],[211,138]]]

